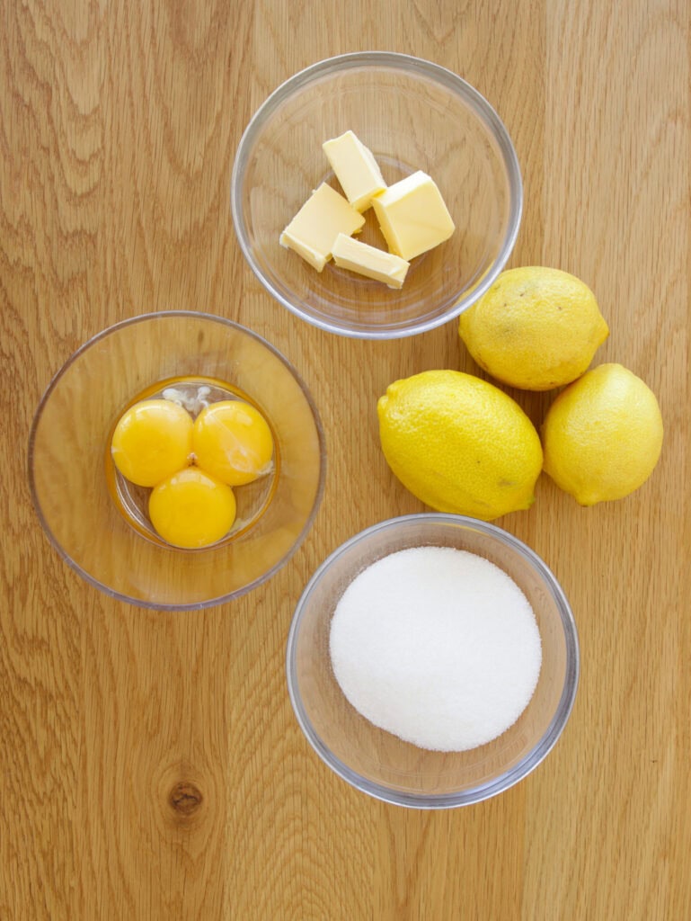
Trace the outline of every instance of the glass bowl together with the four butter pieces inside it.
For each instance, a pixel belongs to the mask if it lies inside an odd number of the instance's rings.
[[[249,266],[283,307],[328,332],[393,339],[488,290],[523,186],[509,134],[465,80],[357,52],[266,99],[237,149],[231,205]]]

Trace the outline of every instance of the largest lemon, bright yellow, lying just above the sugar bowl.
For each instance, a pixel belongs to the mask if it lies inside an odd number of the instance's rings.
[[[391,384],[377,413],[389,467],[426,505],[489,521],[533,504],[540,439],[518,403],[487,381],[423,371]]]

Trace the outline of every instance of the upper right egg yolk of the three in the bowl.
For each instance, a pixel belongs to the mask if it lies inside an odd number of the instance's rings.
[[[266,419],[254,406],[222,400],[197,416],[192,449],[203,470],[223,483],[240,486],[269,472],[273,438]]]

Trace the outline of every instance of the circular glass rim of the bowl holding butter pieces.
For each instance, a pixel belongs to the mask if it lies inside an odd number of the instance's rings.
[[[297,298],[295,298],[295,302],[293,302],[288,297],[283,297],[282,293],[271,283],[270,279],[261,272],[259,263],[252,254],[246,233],[243,211],[239,203],[245,180],[245,173],[249,163],[248,151],[251,150],[259,134],[259,130],[273,114],[273,111],[275,111],[285,99],[288,99],[301,87],[304,87],[319,76],[324,76],[339,70],[351,70],[355,67],[367,65],[386,66],[398,70],[405,70],[407,72],[417,71],[422,76],[427,76],[443,85],[443,87],[451,90],[455,95],[462,96],[466,100],[473,111],[475,111],[476,115],[478,115],[479,119],[488,126],[489,132],[494,136],[500,148],[501,157],[503,158],[504,166],[509,177],[510,209],[508,232],[501,244],[497,259],[487,274],[478,282],[478,285],[473,288],[470,296],[458,297],[451,309],[446,310],[441,316],[435,317],[432,320],[417,322],[404,329],[372,329],[363,332],[359,329],[348,329],[336,321],[317,320],[317,318],[311,316],[301,308]],[[438,326],[442,326],[443,323],[454,320],[464,310],[476,303],[476,301],[489,290],[489,287],[495,282],[498,275],[501,274],[501,271],[512,254],[521,227],[523,200],[524,193],[521,168],[511,136],[497,114],[497,111],[495,111],[489,101],[485,99],[475,87],[464,80],[462,76],[458,76],[441,64],[434,64],[432,61],[427,61],[424,58],[415,57],[411,54],[402,54],[400,52],[367,51],[339,54],[335,57],[317,61],[315,64],[310,64],[308,67],[305,67],[305,69],[298,71],[294,76],[288,77],[287,80],[274,89],[261,103],[259,109],[255,111],[254,115],[249,120],[240,138],[240,143],[237,146],[230,181],[230,204],[236,238],[250,269],[259,279],[262,286],[269,292],[271,297],[282,304],[284,308],[294,313],[300,320],[310,323],[312,326],[316,326],[318,329],[325,330],[326,332],[333,332],[336,335],[354,339],[401,339],[407,336],[417,335],[420,332],[429,332]]]

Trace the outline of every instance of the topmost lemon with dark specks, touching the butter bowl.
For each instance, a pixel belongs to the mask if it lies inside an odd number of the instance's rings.
[[[512,387],[548,391],[579,378],[609,328],[591,289],[567,272],[502,272],[458,332],[480,367]]]

